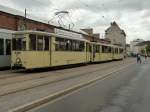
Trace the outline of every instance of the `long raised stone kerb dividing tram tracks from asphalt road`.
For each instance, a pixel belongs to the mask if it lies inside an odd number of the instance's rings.
[[[112,76],[114,76],[114,75],[111,75],[111,74],[113,74],[115,72],[119,72],[122,69],[127,68],[133,64],[135,64],[135,63],[127,64],[123,67],[119,67],[115,70],[106,72],[106,74],[99,75],[99,76],[93,77],[91,79],[87,78],[89,80],[86,80],[86,82],[77,83],[76,85],[74,85],[70,88],[64,89],[62,91],[56,92],[54,94],[50,94],[50,95],[45,96],[43,98],[40,98],[38,100],[31,101],[31,102],[26,103],[24,105],[18,106],[16,108],[12,109],[13,110],[12,112],[27,112],[27,111],[32,112],[32,111],[35,111],[36,109],[38,109],[39,106],[45,105],[48,102],[56,101],[57,99],[61,99],[62,97],[68,96],[68,95],[72,94],[73,92],[78,91],[81,88],[86,88],[88,86],[94,85],[99,80],[101,81],[101,80],[112,78]],[[115,74],[115,75],[117,76],[119,74]]]

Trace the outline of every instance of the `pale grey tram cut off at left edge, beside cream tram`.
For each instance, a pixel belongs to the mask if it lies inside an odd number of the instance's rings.
[[[0,69],[11,65],[12,31],[0,29]]]

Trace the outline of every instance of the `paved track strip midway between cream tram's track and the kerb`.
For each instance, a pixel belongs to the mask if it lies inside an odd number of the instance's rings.
[[[119,65],[118,63],[116,64],[112,64],[109,66],[109,68],[113,69],[113,68],[116,68],[118,66],[123,66],[125,65],[125,63]],[[108,66],[107,67],[102,67],[101,69],[100,68],[97,68],[95,70],[92,70],[92,71],[88,71],[88,72],[83,72],[83,73],[80,73],[80,74],[74,74],[74,75],[71,75],[70,74],[67,74],[65,76],[59,76],[57,75],[57,77],[55,78],[51,78],[51,76],[44,76],[42,80],[40,81],[37,81],[38,79],[41,79],[41,78],[37,78],[37,79],[33,79],[33,80],[30,80],[30,82],[28,82],[29,80],[27,81],[24,81],[24,82],[19,82],[18,83],[15,83],[14,86],[17,87],[17,85],[25,85],[25,86],[20,86],[19,88],[16,88],[16,89],[12,89],[11,88],[11,84],[8,84],[8,85],[2,85],[0,86],[0,89],[1,89],[1,92],[0,92],[0,96],[6,96],[6,95],[9,95],[9,94],[13,94],[13,93],[17,93],[17,92],[22,92],[22,91],[25,91],[25,90],[28,90],[28,89],[33,89],[33,88],[36,88],[36,87],[40,87],[40,86],[45,86],[45,85],[49,85],[49,84],[52,84],[52,83],[56,83],[56,82],[59,82],[59,81],[63,81],[63,80],[69,80],[71,78],[76,78],[76,77],[82,77],[82,76],[88,76],[90,74],[93,74],[93,73],[97,73],[99,71],[105,71],[106,69],[108,69]],[[32,82],[34,82],[32,84]],[[13,85],[13,84],[12,84]],[[10,87],[9,87],[10,86]],[[3,89],[5,89],[5,87],[7,87],[7,91],[3,91]],[[10,88],[10,89],[8,89]]]

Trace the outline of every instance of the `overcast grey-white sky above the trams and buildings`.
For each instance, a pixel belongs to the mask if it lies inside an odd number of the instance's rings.
[[[35,15],[51,23],[58,21],[57,11],[68,11],[60,15],[65,25],[74,28],[94,28],[95,33],[104,35],[110,22],[116,21],[127,33],[127,42],[142,38],[150,40],[149,0],[0,0],[5,5]],[[53,18],[54,17],[54,18]],[[60,21],[61,22],[61,21]],[[62,23],[61,23],[62,24]]]

